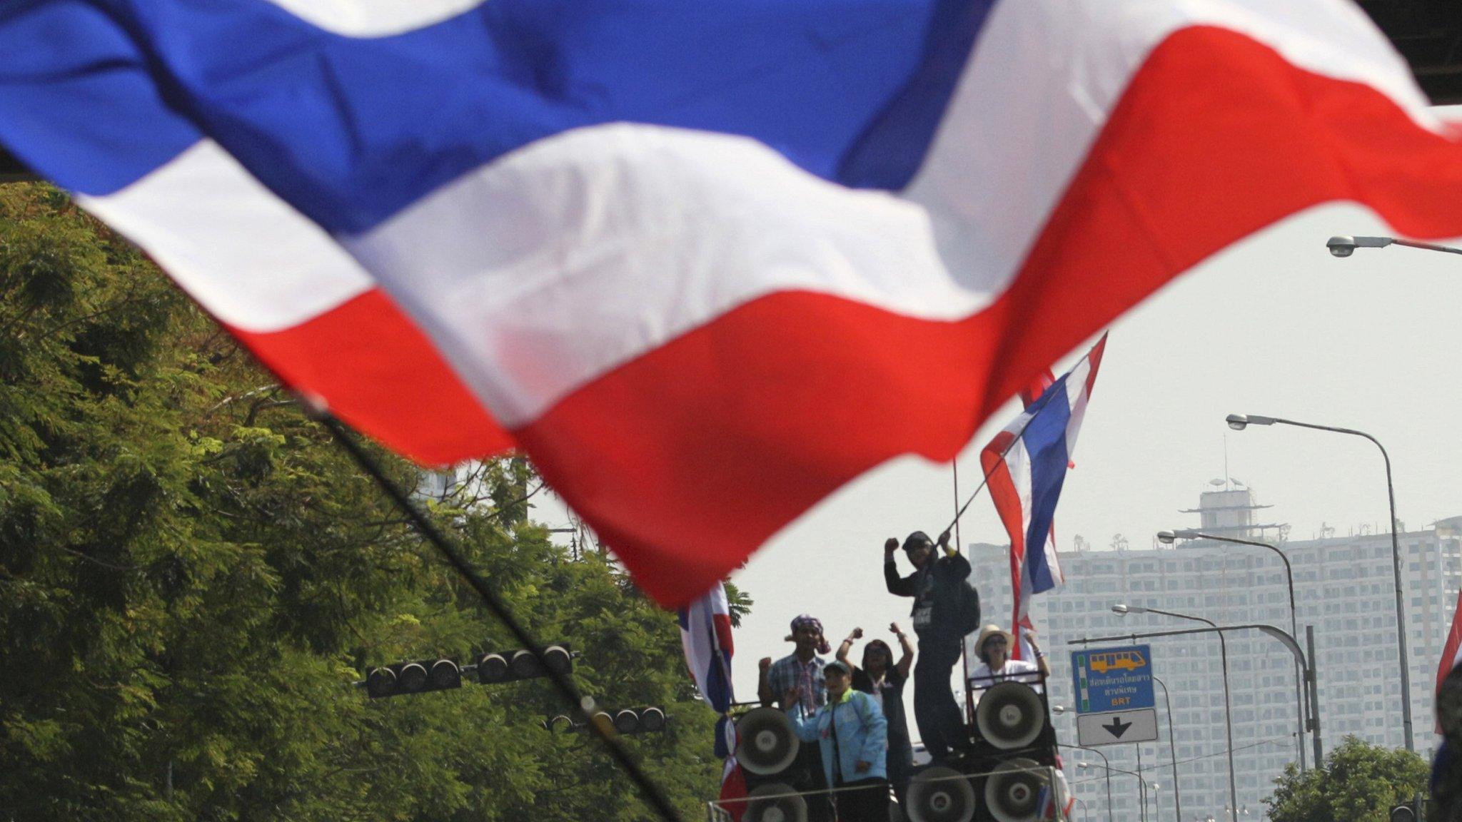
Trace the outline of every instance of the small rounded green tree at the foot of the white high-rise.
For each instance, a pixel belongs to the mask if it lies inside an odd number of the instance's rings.
[[[1427,790],[1427,775],[1420,755],[1348,736],[1320,768],[1285,765],[1265,804],[1273,822],[1386,822],[1393,804]]]

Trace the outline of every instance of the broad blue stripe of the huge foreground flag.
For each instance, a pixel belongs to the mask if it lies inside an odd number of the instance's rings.
[[[380,38],[262,0],[108,3],[111,18],[79,0],[23,4],[0,15],[0,111],[44,114],[47,127],[4,114],[0,142],[99,195],[193,142],[186,113],[338,233],[528,143],[613,121],[746,135],[820,177],[899,189],[991,1],[490,0]],[[45,145],[69,126],[75,140]]]

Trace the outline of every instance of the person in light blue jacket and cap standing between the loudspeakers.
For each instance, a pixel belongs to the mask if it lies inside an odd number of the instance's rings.
[[[797,736],[816,742],[822,749],[823,772],[833,788],[838,822],[887,822],[889,780],[885,750],[889,723],[873,696],[852,689],[852,670],[846,663],[823,665],[827,704],[810,718],[788,711]],[[797,690],[789,690],[782,705],[797,705]]]

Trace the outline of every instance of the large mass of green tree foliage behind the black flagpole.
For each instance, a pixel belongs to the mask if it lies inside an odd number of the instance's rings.
[[[380,455],[399,483],[415,470]],[[674,614],[531,521],[520,459],[434,505],[686,818],[715,717]],[[744,597],[741,597],[744,600]],[[744,600],[744,606],[750,606]],[[272,377],[135,247],[0,187],[0,809],[75,821],[633,821],[544,680],[367,701],[367,665],[513,642]]]

